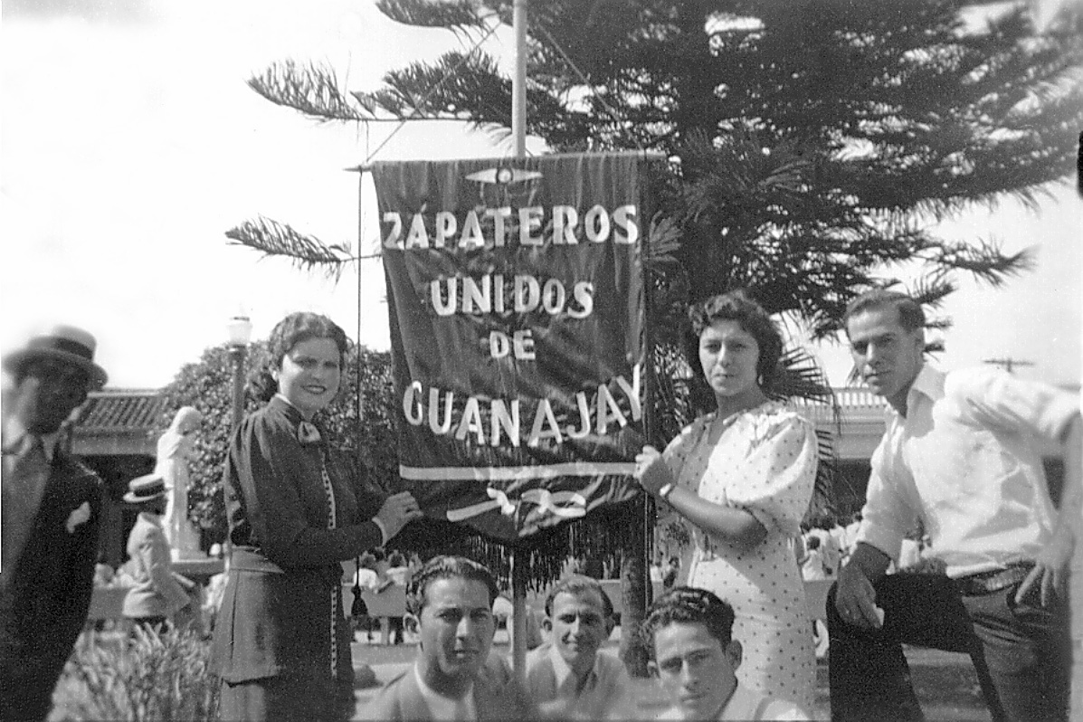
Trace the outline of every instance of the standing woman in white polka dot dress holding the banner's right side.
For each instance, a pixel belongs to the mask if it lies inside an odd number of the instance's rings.
[[[689,316],[717,411],[697,418],[665,452],[645,446],[639,482],[692,526],[690,587],[728,601],[744,647],[738,679],[771,698],[812,708],[815,656],[800,569],[791,547],[812,496],[813,425],[772,401],[782,337],[741,292]]]

